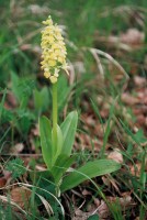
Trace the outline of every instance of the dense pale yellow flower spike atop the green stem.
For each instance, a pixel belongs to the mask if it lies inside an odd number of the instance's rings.
[[[67,72],[66,63],[66,46],[61,30],[57,24],[54,24],[52,18],[48,16],[43,21],[46,26],[42,31],[42,68],[44,76],[55,84],[59,76],[59,70],[63,68]]]

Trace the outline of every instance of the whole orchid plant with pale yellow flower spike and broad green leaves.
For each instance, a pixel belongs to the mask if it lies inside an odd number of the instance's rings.
[[[41,146],[47,170],[52,174],[54,184],[64,193],[86,179],[109,174],[120,168],[120,164],[111,160],[94,160],[74,169],[77,156],[72,155],[72,145],[78,123],[77,111],[70,112],[65,121],[58,125],[57,86],[60,70],[68,74],[66,63],[66,45],[61,30],[53,23],[50,16],[43,22],[42,31],[42,69],[44,76],[52,82],[53,117],[52,121],[45,116],[39,118]]]

